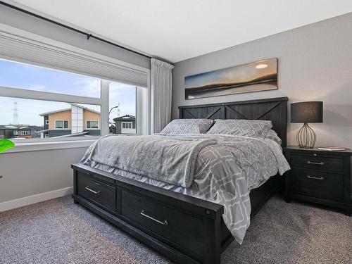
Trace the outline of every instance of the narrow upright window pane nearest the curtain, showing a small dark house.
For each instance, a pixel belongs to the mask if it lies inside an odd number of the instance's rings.
[[[136,134],[137,87],[120,82],[109,84],[110,133]]]

